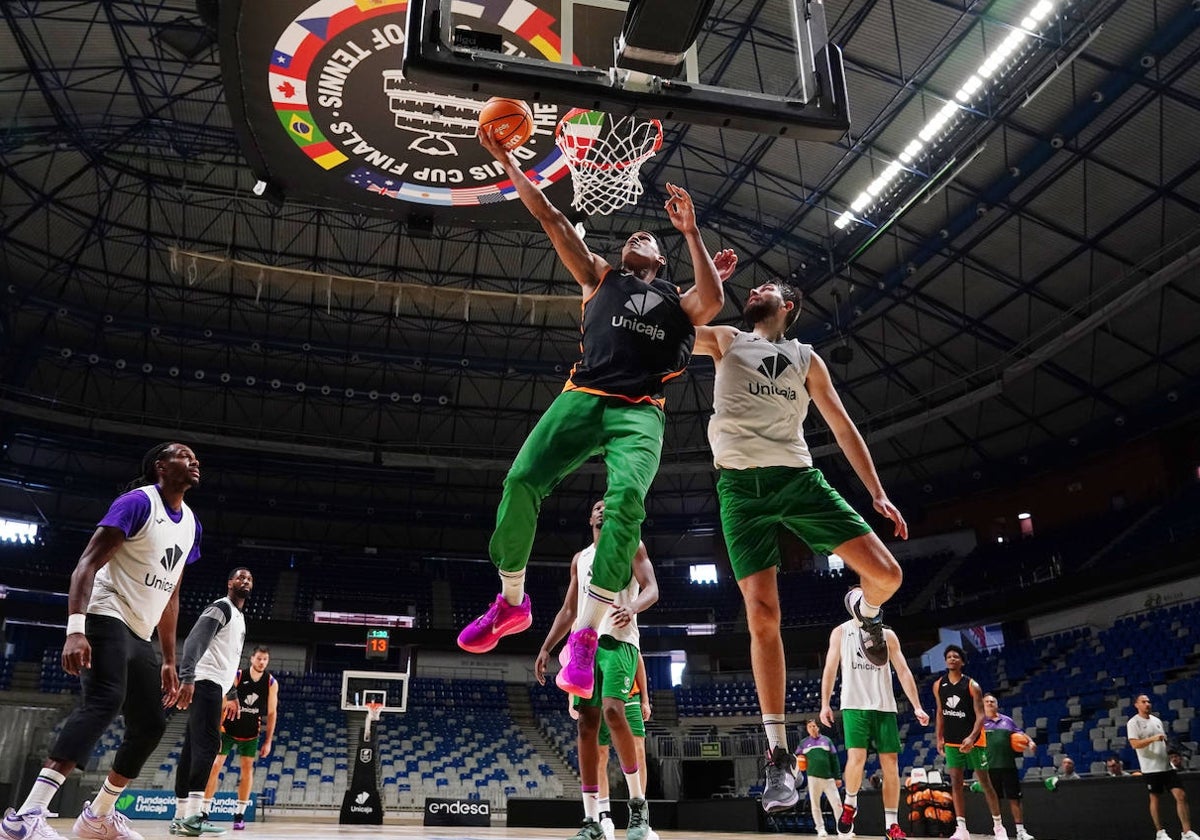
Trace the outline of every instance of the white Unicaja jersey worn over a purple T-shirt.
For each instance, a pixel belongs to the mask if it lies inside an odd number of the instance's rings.
[[[88,612],[119,618],[134,635],[149,640],[192,554],[196,517],[182,504],[182,516],[172,522],[157,487],[138,490],[150,499],[150,516],[96,572]]]

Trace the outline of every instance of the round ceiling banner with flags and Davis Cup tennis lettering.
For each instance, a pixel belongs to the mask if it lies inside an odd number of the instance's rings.
[[[545,8],[544,6],[552,6]],[[284,197],[421,223],[536,227],[479,145],[479,100],[409,84],[407,0],[224,0],[221,65],[242,150]],[[455,25],[509,53],[559,60],[558,0],[455,2]],[[554,145],[566,108],[530,103],[514,155],[558,206],[569,170]]]

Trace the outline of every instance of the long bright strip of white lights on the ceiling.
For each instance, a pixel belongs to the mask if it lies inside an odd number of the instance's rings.
[[[896,160],[892,161],[883,169],[883,172],[874,181],[871,181],[866,188],[854,198],[853,202],[850,203],[850,209],[838,216],[833,226],[839,230],[845,230],[852,223],[863,221],[860,214],[863,214],[863,211],[871,205],[876,204],[881,196],[886,196],[888,186],[896,180],[901,172],[907,170],[908,164],[917,160],[917,157],[925,150],[926,145],[935,143],[946,132],[948,126],[958,121],[962,110],[971,104],[982,90],[984,90],[988,80],[992,79],[997,72],[1003,74],[1002,68],[1007,68],[1008,59],[1021,48],[1026,40],[1036,35],[1037,29],[1052,11],[1054,0],[1038,0],[1038,4],[1030,10],[1030,13],[1021,19],[1021,23],[1009,30],[1004,40],[1001,41],[983,60],[983,64],[979,65],[978,70],[967,77],[967,80],[964,82],[962,86],[959,88],[956,94],[954,94],[954,98],[948,100],[932,116],[929,118],[929,121],[925,122],[922,130],[917,133],[917,137],[904,148],[904,151],[896,156]]]

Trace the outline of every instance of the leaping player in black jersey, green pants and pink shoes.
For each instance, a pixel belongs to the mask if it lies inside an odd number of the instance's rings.
[[[526,176],[512,155],[482,132],[480,143],[499,161],[530,214],[550,236],[558,258],[583,294],[581,358],[563,392],[529,432],[504,479],[488,550],[500,571],[502,592],[458,635],[458,646],[485,653],[502,636],[532,623],[524,569],[533,548],[538,510],[554,486],[593,455],[608,468],[605,527],[596,542],[588,608],[566,642],[559,688],[590,697],[596,634],[613,596],[629,582],[634,552],[646,518],[646,493],[662,452],[662,386],[691,359],[696,325],[712,320],[725,304],[721,281],[737,257],[704,250],[691,197],[667,184],[666,211],[683,234],[696,283],[686,292],[659,277],[666,265],[658,240],[634,233],[616,268],[592,253],[583,238]]]

